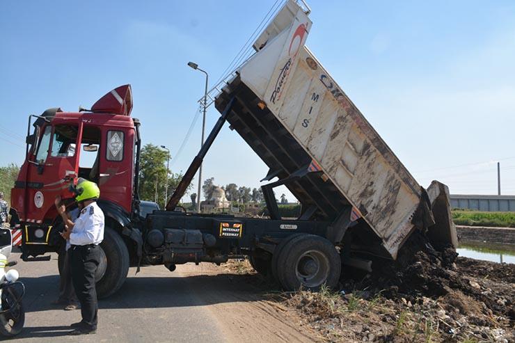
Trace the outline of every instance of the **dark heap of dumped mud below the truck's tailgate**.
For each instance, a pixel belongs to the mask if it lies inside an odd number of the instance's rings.
[[[422,234],[413,234],[395,263],[385,263],[354,289],[383,292],[390,298],[404,297],[415,303],[418,298],[464,294],[480,303],[485,314],[515,322],[515,265],[459,257],[452,248],[435,250]],[[347,288],[348,289],[348,288]]]

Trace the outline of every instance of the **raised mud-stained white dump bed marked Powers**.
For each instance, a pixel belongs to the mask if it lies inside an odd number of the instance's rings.
[[[301,202],[304,218],[337,221],[350,209],[361,218],[354,232],[363,248],[393,258],[415,228],[455,245],[447,187],[423,189],[305,46],[308,14],[285,4],[216,108],[236,97],[228,122],[269,166],[265,180],[283,180]]]

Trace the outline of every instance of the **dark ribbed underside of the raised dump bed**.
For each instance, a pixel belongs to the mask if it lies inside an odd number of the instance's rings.
[[[311,157],[274,114],[267,108],[260,109],[260,99],[239,78],[234,79],[217,97],[216,109],[222,112],[233,96],[237,102],[227,118],[230,127],[267,164],[269,175],[281,180],[309,166]],[[312,216],[314,219],[333,221],[342,208],[349,205],[331,180],[324,181],[322,173],[310,173],[285,186],[301,202],[303,210],[317,206]]]

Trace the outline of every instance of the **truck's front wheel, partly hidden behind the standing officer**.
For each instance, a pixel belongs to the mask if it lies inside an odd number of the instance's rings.
[[[129,273],[129,250],[120,234],[105,228],[104,241],[100,244],[102,258],[95,274],[98,298],[106,298],[122,287]]]

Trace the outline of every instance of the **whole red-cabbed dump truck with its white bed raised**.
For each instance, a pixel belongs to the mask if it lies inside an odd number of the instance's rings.
[[[31,116],[26,160],[11,193],[23,259],[62,249],[54,197],[73,206],[68,186],[79,177],[99,184],[106,216],[96,276],[101,297],[122,286],[129,266],[173,271],[176,264],[247,255],[285,289],[318,289],[336,285],[342,266],[370,270],[371,256],[395,260],[415,230],[435,246],[455,246],[447,187],[420,186],[306,47],[309,13],[303,1],[287,1],[254,42],[255,54],[209,92],[205,101],[221,117],[164,211],[140,215],[140,122],[130,116],[129,85],[88,110]],[[269,218],[180,210],[226,121],[269,166],[262,180]],[[90,166],[81,164],[86,154],[95,154]],[[301,203],[299,218],[280,217],[280,185]]]

